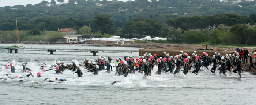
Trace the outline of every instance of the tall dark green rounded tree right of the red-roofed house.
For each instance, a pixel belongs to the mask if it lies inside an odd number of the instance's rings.
[[[96,15],[94,20],[95,25],[100,29],[101,34],[112,33],[114,31],[114,22],[110,15]]]

